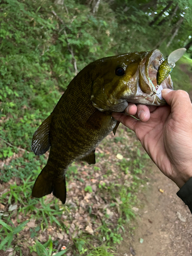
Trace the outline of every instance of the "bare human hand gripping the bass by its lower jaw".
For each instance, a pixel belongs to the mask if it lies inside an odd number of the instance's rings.
[[[168,105],[129,103],[124,113],[112,116],[136,133],[147,154],[161,172],[182,187],[192,177],[192,104],[182,90],[164,89]]]

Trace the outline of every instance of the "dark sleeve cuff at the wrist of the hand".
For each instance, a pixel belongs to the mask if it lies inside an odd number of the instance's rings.
[[[181,187],[177,195],[189,207],[192,214],[192,177]]]

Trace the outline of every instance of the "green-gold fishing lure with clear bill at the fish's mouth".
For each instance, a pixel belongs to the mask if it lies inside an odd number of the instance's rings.
[[[180,48],[168,55],[161,64],[157,72],[157,84],[160,85],[165,78],[172,72],[175,67],[175,62],[177,62],[183,54],[186,52],[185,48]]]

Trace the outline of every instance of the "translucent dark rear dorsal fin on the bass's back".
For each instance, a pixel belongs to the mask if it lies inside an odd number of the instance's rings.
[[[48,118],[41,123],[33,135],[31,151],[33,151],[36,156],[45,154],[51,146],[49,141],[51,118],[51,115],[48,116]]]

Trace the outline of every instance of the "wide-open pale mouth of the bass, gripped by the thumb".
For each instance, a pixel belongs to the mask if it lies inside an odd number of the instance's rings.
[[[161,84],[157,84],[157,72],[160,66],[159,60],[163,57],[159,50],[148,52],[141,60],[139,66],[139,80],[137,94],[134,102],[149,105],[164,105],[165,100],[162,98],[163,89],[173,90],[173,81],[168,75]]]

